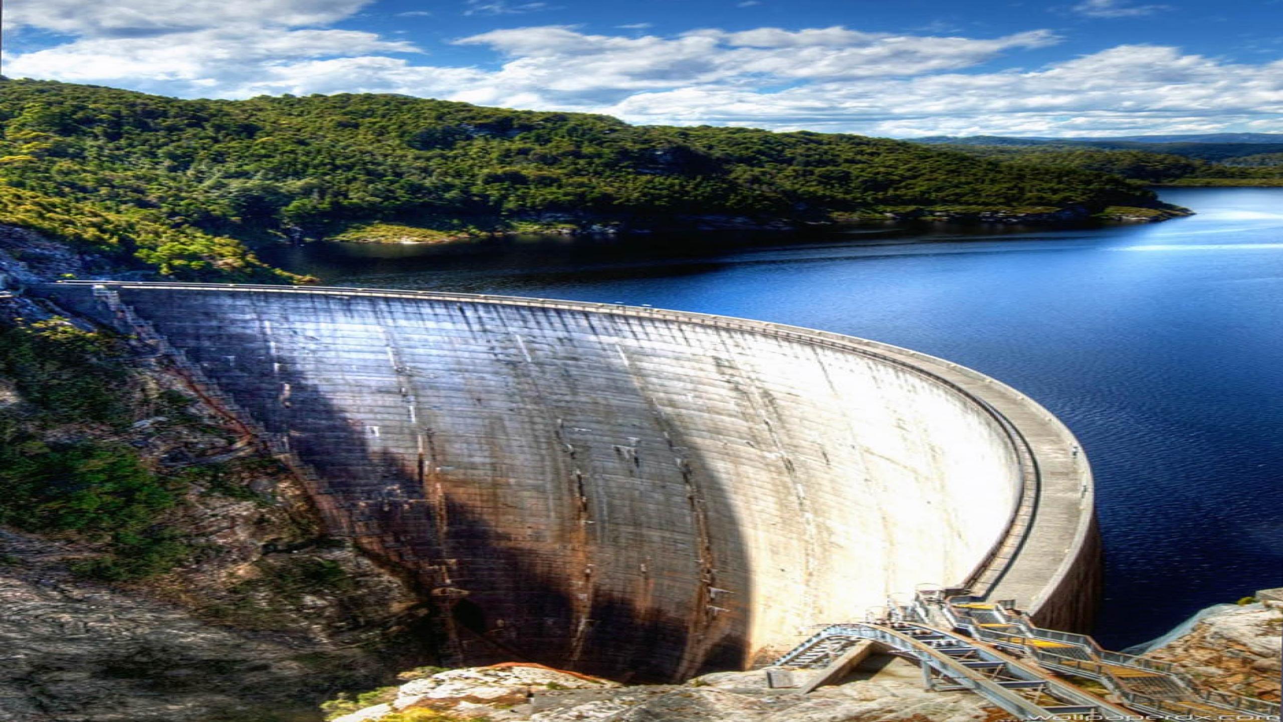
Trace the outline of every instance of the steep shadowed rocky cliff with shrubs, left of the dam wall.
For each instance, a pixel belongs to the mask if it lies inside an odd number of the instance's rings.
[[[10,283],[103,270],[0,231]],[[336,690],[426,659],[411,587],[327,536],[299,480],[176,369],[46,302],[0,295],[0,719],[314,721]],[[109,348],[115,388],[59,367],[64,342]],[[63,387],[119,409],[59,409],[76,401]],[[121,460],[148,486],[113,488],[94,468]],[[142,493],[151,501],[95,509]],[[119,523],[131,514],[149,516]]]

